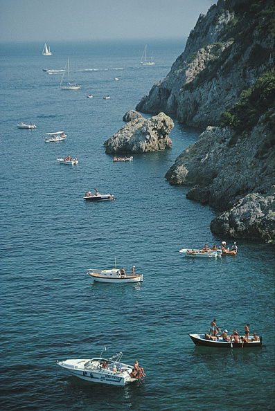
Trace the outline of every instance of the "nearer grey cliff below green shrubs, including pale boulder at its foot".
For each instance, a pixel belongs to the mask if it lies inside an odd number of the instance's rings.
[[[275,242],[272,141],[273,131],[263,118],[242,134],[229,127],[209,126],[181,153],[166,179],[190,185],[188,199],[228,210],[211,223],[213,232]]]

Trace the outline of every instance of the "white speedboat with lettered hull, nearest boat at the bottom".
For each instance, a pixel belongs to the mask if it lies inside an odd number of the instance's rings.
[[[62,360],[57,361],[57,365],[91,383],[126,385],[139,381],[139,378],[130,376],[132,365],[121,363],[122,356],[123,353],[120,352],[109,359],[100,356],[91,359]]]

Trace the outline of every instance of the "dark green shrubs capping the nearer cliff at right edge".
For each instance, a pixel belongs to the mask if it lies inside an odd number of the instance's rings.
[[[275,72],[271,71],[259,77],[250,89],[242,91],[240,101],[221,114],[220,125],[238,131],[249,130],[274,104]]]

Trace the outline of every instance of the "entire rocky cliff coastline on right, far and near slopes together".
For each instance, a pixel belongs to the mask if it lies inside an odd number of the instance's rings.
[[[207,126],[166,174],[220,211],[211,230],[275,242],[274,1],[219,0],[136,106]],[[224,111],[224,113],[222,113]],[[222,113],[222,116],[221,116]],[[217,127],[222,126],[222,127]]]

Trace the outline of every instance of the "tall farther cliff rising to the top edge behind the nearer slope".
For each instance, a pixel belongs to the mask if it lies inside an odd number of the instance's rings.
[[[200,15],[184,53],[136,110],[163,111],[196,127],[218,125],[220,113],[274,68],[275,39],[267,28],[273,1],[251,5],[251,0],[219,0],[207,15]],[[264,14],[264,19],[257,17]]]

